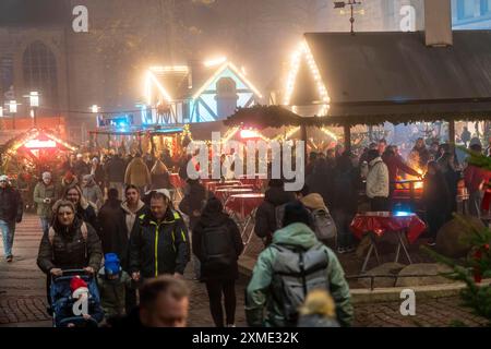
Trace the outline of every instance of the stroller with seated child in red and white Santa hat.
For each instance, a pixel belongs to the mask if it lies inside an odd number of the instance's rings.
[[[97,327],[104,320],[95,278],[85,270],[63,270],[50,288],[55,327]]]

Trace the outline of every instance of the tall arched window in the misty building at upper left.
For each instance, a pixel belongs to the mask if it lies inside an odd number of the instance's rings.
[[[41,41],[27,46],[23,56],[24,86],[41,95],[41,106],[58,106],[58,75],[55,55]]]

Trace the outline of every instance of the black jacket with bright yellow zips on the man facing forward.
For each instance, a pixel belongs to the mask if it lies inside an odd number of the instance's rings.
[[[190,260],[188,229],[178,212],[168,209],[163,221],[149,215],[136,219],[130,238],[130,273],[143,278],[184,274]]]

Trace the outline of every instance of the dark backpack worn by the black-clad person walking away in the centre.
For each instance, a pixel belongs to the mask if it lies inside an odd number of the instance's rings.
[[[228,267],[237,260],[236,250],[226,224],[204,228],[202,249],[203,263],[213,270]]]

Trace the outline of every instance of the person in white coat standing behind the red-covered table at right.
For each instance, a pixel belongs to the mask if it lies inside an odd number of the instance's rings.
[[[367,196],[370,198],[371,210],[390,210],[388,168],[375,149],[369,152],[368,163]]]

